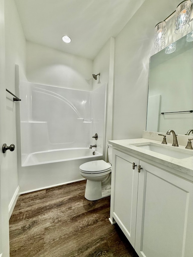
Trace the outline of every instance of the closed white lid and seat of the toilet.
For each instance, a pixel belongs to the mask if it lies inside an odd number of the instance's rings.
[[[88,161],[83,163],[80,167],[81,171],[85,172],[104,172],[111,169],[111,165],[109,165],[106,161],[98,160],[98,161]]]

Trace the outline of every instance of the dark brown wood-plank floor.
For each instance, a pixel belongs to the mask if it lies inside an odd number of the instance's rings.
[[[110,197],[84,198],[86,180],[19,196],[11,215],[11,257],[138,257],[109,222]]]

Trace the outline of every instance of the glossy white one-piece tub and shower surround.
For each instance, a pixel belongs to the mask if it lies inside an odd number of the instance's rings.
[[[82,180],[79,166],[104,156],[107,85],[82,91],[20,81],[19,91],[21,192]]]

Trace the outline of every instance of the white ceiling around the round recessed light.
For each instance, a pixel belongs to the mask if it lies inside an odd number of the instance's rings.
[[[145,0],[15,0],[28,41],[93,60]],[[68,35],[71,43],[62,41]]]

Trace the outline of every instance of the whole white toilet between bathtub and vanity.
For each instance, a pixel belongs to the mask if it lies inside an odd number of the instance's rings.
[[[85,198],[93,201],[111,194],[112,145],[107,143],[109,162],[88,161],[80,165],[80,174],[87,179]]]

